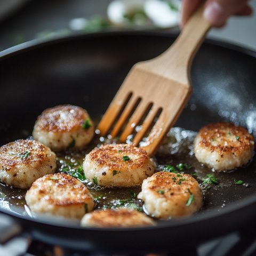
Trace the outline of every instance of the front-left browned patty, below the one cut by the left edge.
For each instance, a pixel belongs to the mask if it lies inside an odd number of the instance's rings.
[[[64,173],[37,179],[25,196],[34,213],[82,218],[94,208],[93,196],[79,180]]]

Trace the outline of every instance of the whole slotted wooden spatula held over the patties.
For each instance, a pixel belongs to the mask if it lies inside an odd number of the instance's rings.
[[[191,61],[210,27],[210,23],[203,18],[202,4],[169,49],[157,58],[135,64],[102,117],[97,127],[98,133],[105,136],[120,116],[110,134],[115,138],[134,111],[120,137],[120,142],[125,142],[151,106],[140,131],[133,139],[133,145],[138,146],[161,111],[146,141],[142,143],[142,148],[149,156],[153,156],[193,91],[190,81]]]

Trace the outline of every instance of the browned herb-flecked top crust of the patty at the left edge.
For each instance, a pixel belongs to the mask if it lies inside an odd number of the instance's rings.
[[[49,152],[50,149],[38,141],[16,140],[0,148],[0,164],[6,171],[21,164],[32,164],[34,161],[43,164],[47,151]]]

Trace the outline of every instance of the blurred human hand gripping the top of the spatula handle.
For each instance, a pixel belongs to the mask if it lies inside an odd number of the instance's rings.
[[[185,25],[190,15],[196,10],[202,0],[182,0],[181,27]],[[214,27],[222,27],[231,15],[251,15],[249,0],[206,0],[204,18]]]

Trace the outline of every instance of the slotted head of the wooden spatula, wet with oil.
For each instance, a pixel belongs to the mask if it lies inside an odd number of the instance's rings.
[[[151,107],[133,139],[133,145],[138,146],[161,111],[146,141],[141,145],[150,156],[153,156],[186,105],[192,87],[189,84],[173,81],[162,74],[153,73],[147,63],[138,63],[131,69],[97,129],[100,131],[100,135],[105,136],[116,118],[120,116],[110,134],[112,138],[115,138],[134,111],[121,134],[120,142],[123,143],[134,132],[135,127]],[[127,102],[127,100],[129,101]],[[126,102],[127,105],[124,108]]]

